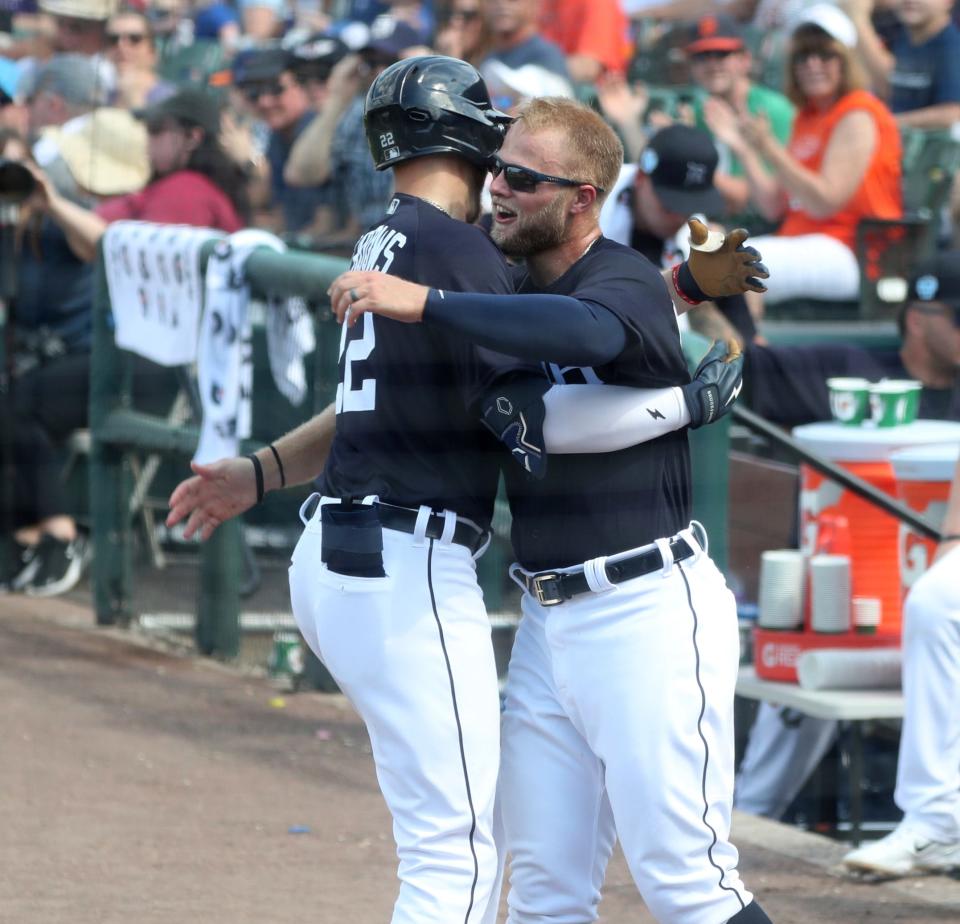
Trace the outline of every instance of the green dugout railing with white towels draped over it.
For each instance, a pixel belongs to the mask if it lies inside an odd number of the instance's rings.
[[[201,251],[201,265],[218,238],[211,237]],[[299,295],[317,311],[317,347],[313,358],[313,401],[310,412],[325,406],[336,390],[340,328],[326,309],[326,290],[347,267],[347,261],[322,254],[257,250],[247,262],[254,297]],[[689,334],[684,349],[691,369],[709,344]],[[137,409],[133,399],[132,354],[117,347],[102,252],[94,275],[93,348],[90,380],[89,497],[93,558],[91,589],[96,621],[100,625],[127,625],[134,613],[134,518],[130,500],[135,482],[135,460],[140,455],[177,459],[187,471],[196,449],[196,425],[179,425]],[[185,387],[189,389],[190,382]],[[194,401],[194,403],[196,403]],[[254,420],[257,429],[257,421]],[[271,434],[278,436],[279,433]],[[727,486],[729,478],[729,423],[722,420],[692,432],[694,515],[706,526],[710,551],[717,565],[726,565]],[[262,445],[245,442],[241,451]],[[501,605],[509,533],[509,514],[498,503],[496,532],[500,541],[481,559],[480,582],[490,612]],[[230,658],[240,645],[240,591],[243,584],[243,524],[222,524],[199,546],[199,591],[195,639],[205,655]]]

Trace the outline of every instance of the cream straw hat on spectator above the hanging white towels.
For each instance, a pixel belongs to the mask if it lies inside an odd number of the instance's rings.
[[[97,109],[43,133],[73,178],[98,196],[142,189],[150,179],[147,131],[126,109]]]

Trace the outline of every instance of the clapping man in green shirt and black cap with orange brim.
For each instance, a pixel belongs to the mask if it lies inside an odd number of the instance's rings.
[[[782,93],[750,79],[753,59],[744,43],[743,30],[731,16],[703,16],[694,27],[693,40],[686,46],[690,76],[703,91],[694,99],[697,128],[710,132],[711,121],[720,110],[720,118],[731,113],[763,115],[780,144],[786,144],[793,125],[793,104]],[[713,181],[727,207],[731,225],[742,225],[754,234],[773,230],[750,208],[750,183],[743,164],[722,141],[714,138],[720,163]]]

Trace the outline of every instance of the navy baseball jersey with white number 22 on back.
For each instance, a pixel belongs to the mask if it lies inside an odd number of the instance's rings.
[[[351,264],[457,292],[513,291],[479,228],[407,195],[357,242]],[[495,356],[495,354],[488,354]],[[519,362],[516,363],[519,366]],[[484,388],[508,368],[454,334],[373,314],[340,340],[337,430],[320,490],[453,510],[489,525],[504,449],[480,423]]]

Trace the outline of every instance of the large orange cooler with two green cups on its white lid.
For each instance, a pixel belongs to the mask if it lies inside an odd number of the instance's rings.
[[[794,439],[891,497],[897,481],[891,464],[898,450],[930,444],[960,444],[960,424],[918,420],[899,427],[850,427],[815,423],[797,427]],[[900,524],[896,517],[800,466],[800,548],[812,555],[824,520],[843,517],[849,526],[851,593],[880,601],[877,633],[897,636],[901,628]]]

